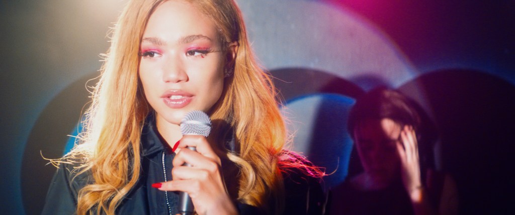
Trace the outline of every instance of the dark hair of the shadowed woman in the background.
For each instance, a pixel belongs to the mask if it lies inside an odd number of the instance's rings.
[[[348,132],[355,142],[354,129],[361,122],[384,118],[395,121],[401,127],[413,126],[417,134],[420,169],[434,168],[433,146],[437,140],[436,127],[418,103],[397,90],[379,87],[357,97],[356,104],[349,113]],[[422,180],[425,181],[425,171],[421,173]]]

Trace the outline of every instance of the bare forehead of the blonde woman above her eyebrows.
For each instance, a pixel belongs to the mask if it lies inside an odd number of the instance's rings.
[[[213,41],[218,38],[215,22],[193,4],[165,1],[150,15],[143,36],[174,41],[187,35],[205,35]]]

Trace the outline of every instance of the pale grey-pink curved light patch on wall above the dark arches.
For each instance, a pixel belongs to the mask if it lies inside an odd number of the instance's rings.
[[[364,17],[315,1],[238,1],[250,41],[267,69],[328,71],[364,89],[397,87],[418,74],[407,57]],[[373,80],[373,81],[374,81]]]

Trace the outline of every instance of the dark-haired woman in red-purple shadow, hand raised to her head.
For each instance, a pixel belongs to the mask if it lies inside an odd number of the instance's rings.
[[[457,214],[454,181],[419,155],[432,149],[417,107],[386,88],[357,99],[348,129],[364,171],[332,189],[330,214]]]

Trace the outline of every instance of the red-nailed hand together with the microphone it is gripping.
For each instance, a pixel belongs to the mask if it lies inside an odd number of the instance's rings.
[[[161,183],[160,190],[180,191],[179,212],[192,214],[237,214],[226,191],[221,161],[206,139],[211,120],[202,111],[191,111],[181,121],[183,134],[172,164],[173,180]]]

